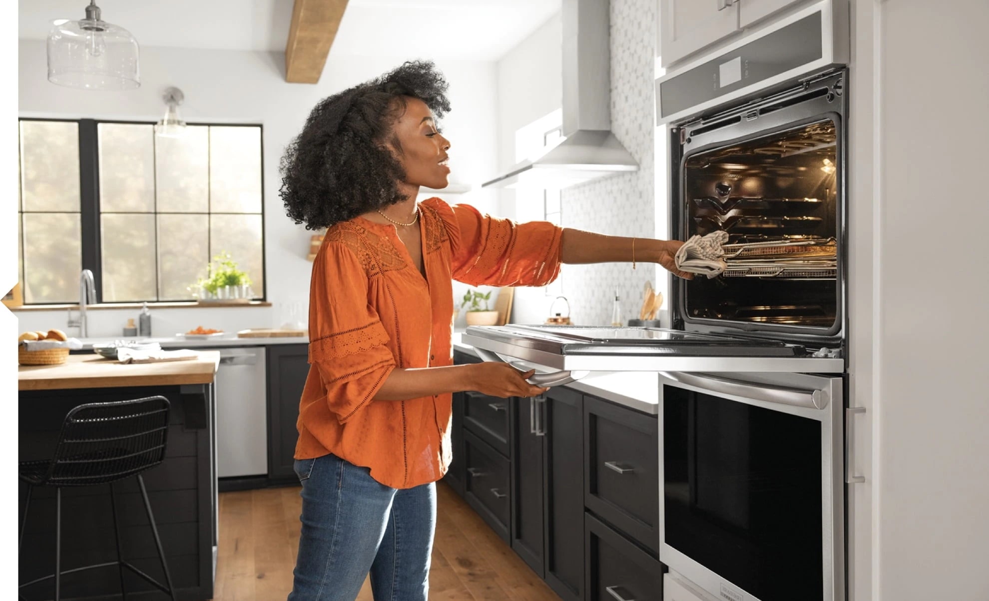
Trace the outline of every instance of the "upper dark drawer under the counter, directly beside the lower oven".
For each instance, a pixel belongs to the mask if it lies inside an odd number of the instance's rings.
[[[584,505],[659,553],[659,422],[584,396]]]

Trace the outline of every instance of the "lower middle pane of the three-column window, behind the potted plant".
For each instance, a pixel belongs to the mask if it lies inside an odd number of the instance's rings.
[[[158,299],[192,299],[187,290],[206,277],[210,261],[210,217],[158,215]]]

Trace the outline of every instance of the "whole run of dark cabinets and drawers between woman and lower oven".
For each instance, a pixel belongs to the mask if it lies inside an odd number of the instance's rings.
[[[459,392],[452,428],[445,480],[561,599],[663,598],[655,415],[566,386]]]

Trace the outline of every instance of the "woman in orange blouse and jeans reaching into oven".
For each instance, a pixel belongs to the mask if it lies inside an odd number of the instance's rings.
[[[431,62],[326,98],[282,160],[289,216],[326,227],[310,298],[296,472],[302,538],[290,600],[424,600],[435,482],[450,464],[451,393],[535,396],[503,363],[453,366],[451,280],[545,286],[561,263],[657,262],[679,242],[516,224],[439,199],[450,110]]]

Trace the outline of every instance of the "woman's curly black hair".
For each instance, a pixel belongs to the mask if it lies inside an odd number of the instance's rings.
[[[393,132],[405,99],[424,102],[437,119],[450,111],[448,84],[432,61],[397,69],[319,102],[282,157],[279,194],[288,215],[320,229],[405,200],[402,152]]]

